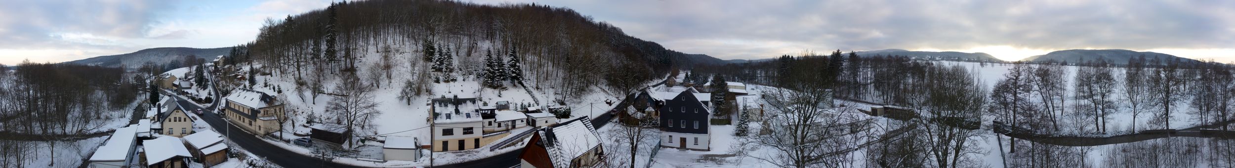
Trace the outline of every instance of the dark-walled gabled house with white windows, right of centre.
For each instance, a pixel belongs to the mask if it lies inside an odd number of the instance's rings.
[[[708,96],[701,96],[708,98]],[[711,109],[688,90],[664,100],[661,107],[661,146],[710,151]]]

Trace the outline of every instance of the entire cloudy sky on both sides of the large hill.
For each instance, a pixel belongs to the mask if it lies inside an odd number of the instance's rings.
[[[473,0],[566,6],[643,40],[721,59],[902,48],[1020,59],[1123,48],[1235,61],[1235,1]],[[0,0],[0,63],[64,62],[151,47],[227,47],[266,17],[329,5],[269,1]]]

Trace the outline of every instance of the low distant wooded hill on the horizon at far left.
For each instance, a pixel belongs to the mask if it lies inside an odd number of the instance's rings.
[[[146,48],[125,54],[99,56],[65,63],[101,65],[111,68],[125,65],[130,69],[133,69],[146,63],[153,63],[161,67],[168,65],[172,64],[173,62],[184,61],[184,57],[186,56],[196,56],[194,59],[201,58],[205,61],[212,61],[215,59],[216,56],[227,54],[227,51],[231,51],[231,47],[222,47],[222,48],[162,47],[162,48]],[[175,63],[168,67],[180,68],[180,67],[188,67],[188,64]]]

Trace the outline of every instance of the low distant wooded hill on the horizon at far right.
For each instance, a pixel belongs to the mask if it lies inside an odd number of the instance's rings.
[[[1055,51],[1051,53],[1029,57],[1021,61],[1026,62],[1068,62],[1068,63],[1082,63],[1082,62],[1097,62],[1099,59],[1107,61],[1113,64],[1128,64],[1129,59],[1145,57],[1146,61],[1152,63],[1153,59],[1165,61],[1178,59],[1184,63],[1200,63],[1200,61],[1188,59],[1182,57],[1176,57],[1165,53],[1156,52],[1136,52],[1129,49],[1067,49],[1067,51]]]

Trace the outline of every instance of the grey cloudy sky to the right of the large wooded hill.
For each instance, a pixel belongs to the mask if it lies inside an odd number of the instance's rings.
[[[504,0],[480,0],[500,4]],[[516,1],[526,2],[526,1]],[[815,51],[990,47],[1231,48],[1235,1],[622,0],[536,1],[627,35],[724,59]],[[721,42],[716,42],[721,41]],[[734,42],[741,41],[741,42]],[[782,48],[803,47],[803,48]],[[1023,56],[1015,56],[1023,57]]]

